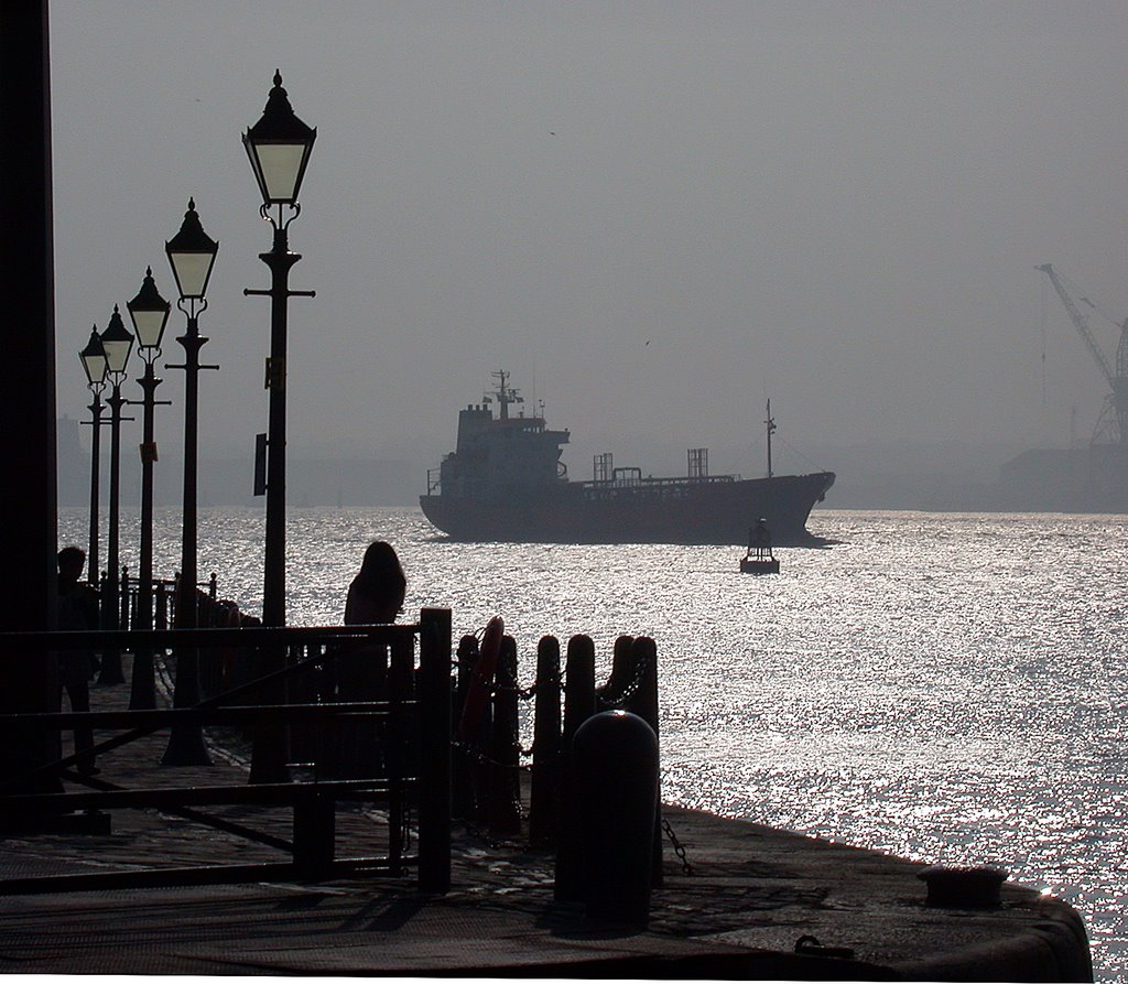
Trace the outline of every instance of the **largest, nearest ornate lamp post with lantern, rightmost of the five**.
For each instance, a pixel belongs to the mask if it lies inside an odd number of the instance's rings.
[[[290,290],[290,267],[301,255],[290,252],[290,223],[301,205],[298,193],[306,175],[317,130],[299,120],[275,70],[274,88],[266,97],[262,118],[243,134],[243,146],[263,196],[259,213],[274,227],[270,253],[258,258],[271,271],[270,290],[245,290],[271,299],[271,354],[266,360],[270,415],[266,436],[266,546],[263,577],[263,624],[285,625],[285,377],[287,307],[291,297],[314,297],[314,291]],[[289,216],[287,216],[287,211]],[[267,669],[280,669],[283,651],[271,653]],[[263,700],[283,702],[285,687],[264,694]],[[255,732],[250,764],[252,782],[277,782],[289,777],[285,766],[287,733],[282,727],[259,727]]]

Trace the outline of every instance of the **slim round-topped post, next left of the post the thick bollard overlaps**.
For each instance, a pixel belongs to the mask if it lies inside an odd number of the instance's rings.
[[[561,756],[561,644],[553,635],[545,635],[537,644],[536,689],[529,844],[550,847],[556,843]]]

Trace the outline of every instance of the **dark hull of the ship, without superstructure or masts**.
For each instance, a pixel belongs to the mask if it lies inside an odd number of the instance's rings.
[[[834,481],[818,472],[655,485],[565,482],[491,498],[422,495],[420,506],[433,526],[467,542],[743,545],[763,517],[776,544],[809,544],[816,537],[807,519]]]

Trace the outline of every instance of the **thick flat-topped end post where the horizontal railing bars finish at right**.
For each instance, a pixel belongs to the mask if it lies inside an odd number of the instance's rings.
[[[422,891],[450,889],[450,609],[420,613],[420,867]]]

